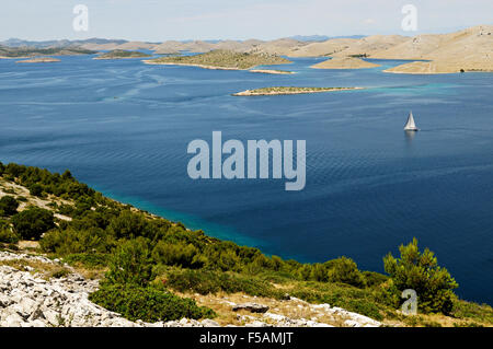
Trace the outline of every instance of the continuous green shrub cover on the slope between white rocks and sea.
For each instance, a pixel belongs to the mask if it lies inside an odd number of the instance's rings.
[[[58,174],[0,163],[0,175],[18,186],[37,185],[34,194],[53,200],[48,209],[27,206],[21,210],[12,199],[0,199],[4,212],[0,242],[12,247],[20,239],[39,240],[41,251],[48,256],[104,274],[91,300],[130,319],[213,317],[211,310],[188,299],[197,293],[279,301],[290,295],[409,326],[493,325],[491,306],[459,300],[452,292],[457,282],[432,252],[420,252],[417,241],[401,246],[400,257],[383,258],[388,276],[362,271],[347,257],[302,264],[111,200],[79,183],[69,171]],[[408,288],[419,294],[417,316],[399,311],[400,294]]]

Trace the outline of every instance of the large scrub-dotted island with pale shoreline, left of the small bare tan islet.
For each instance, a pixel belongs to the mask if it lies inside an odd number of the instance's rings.
[[[291,61],[268,54],[246,54],[231,50],[213,50],[195,56],[170,56],[145,60],[148,65],[191,66],[205,69],[250,70],[257,66],[287,65]],[[255,72],[255,70],[254,70]],[[256,70],[256,72],[284,73],[278,70]],[[289,73],[289,72],[287,72]]]

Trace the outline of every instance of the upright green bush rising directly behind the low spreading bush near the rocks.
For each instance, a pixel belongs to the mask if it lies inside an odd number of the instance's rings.
[[[106,279],[111,283],[146,286],[152,281],[152,258],[147,239],[123,242],[113,253]]]

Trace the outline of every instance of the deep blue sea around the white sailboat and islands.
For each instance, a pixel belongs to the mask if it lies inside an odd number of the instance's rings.
[[[293,75],[147,66],[138,59],[0,60],[0,161],[70,168],[104,194],[194,229],[302,261],[341,255],[382,271],[413,236],[460,296],[493,303],[493,75],[313,70]],[[233,97],[271,85],[366,86]],[[421,132],[402,128],[413,109]],[[187,143],[303,139],[307,186],[192,181]]]

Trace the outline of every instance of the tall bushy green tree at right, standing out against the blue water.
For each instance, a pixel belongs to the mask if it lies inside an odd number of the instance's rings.
[[[420,311],[449,314],[456,300],[452,290],[458,283],[448,270],[438,266],[428,248],[420,253],[416,239],[408,246],[401,245],[399,251],[401,258],[394,258],[390,253],[383,258],[385,270],[392,281],[390,292],[400,296],[403,290],[413,289],[417,293]]]

